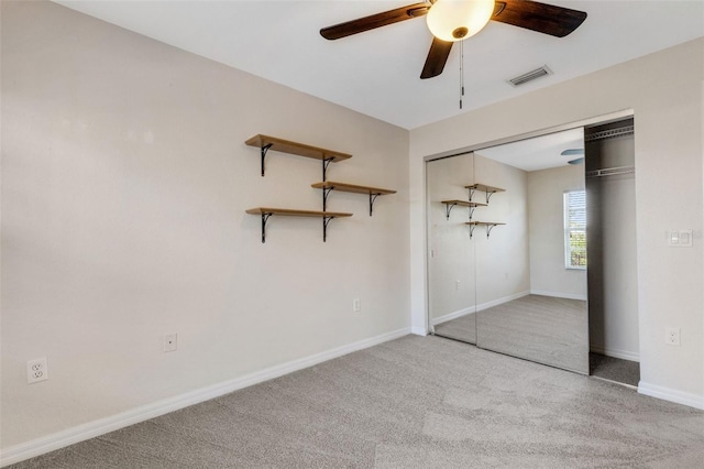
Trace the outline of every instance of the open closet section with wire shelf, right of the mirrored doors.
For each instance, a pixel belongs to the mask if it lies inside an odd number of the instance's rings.
[[[634,119],[584,129],[590,374],[640,381]]]

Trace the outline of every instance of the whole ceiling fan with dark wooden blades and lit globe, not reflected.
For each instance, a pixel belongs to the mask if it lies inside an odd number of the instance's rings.
[[[586,19],[583,11],[530,0],[429,0],[323,28],[320,35],[332,41],[424,15],[433,39],[422,79],[440,75],[452,44],[479,33],[490,20],[564,37]]]

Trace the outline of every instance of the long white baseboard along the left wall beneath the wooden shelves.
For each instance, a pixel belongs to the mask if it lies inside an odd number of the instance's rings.
[[[85,441],[87,439],[95,438],[97,436],[147,421],[150,418],[158,417],[160,415],[168,414],[169,412],[178,411],[180,408],[188,407],[200,402],[209,401],[211,399],[229,394],[233,391],[238,391],[253,384],[283,377],[284,374],[302,370],[305,368],[322,363],[323,361],[332,360],[334,358],[342,357],[358,350],[377,346],[380,343],[407,336],[410,332],[411,328],[407,327],[382,334],[376,337],[371,337],[369,339],[348,343],[346,346],[337,347],[309,357],[292,360],[287,363],[266,368],[264,370],[246,374],[244,377],[235,378],[233,380],[228,380],[208,388],[202,388],[174,397],[161,400],[152,404],[122,412],[117,415],[111,415],[109,417],[88,422],[86,424],[67,428],[52,435],[33,439],[31,441],[10,446],[0,452],[0,467],[10,466],[15,462],[33,458],[35,456],[54,451],[56,449],[74,445],[79,441]]]

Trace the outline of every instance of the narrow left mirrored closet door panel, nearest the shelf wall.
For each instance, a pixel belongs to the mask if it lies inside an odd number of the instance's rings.
[[[428,214],[428,320],[439,336],[476,343],[474,248],[466,204],[473,155],[426,164]]]

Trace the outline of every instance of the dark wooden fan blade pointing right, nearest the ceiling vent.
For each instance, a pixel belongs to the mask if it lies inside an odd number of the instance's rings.
[[[586,13],[530,0],[501,0],[494,8],[492,20],[525,28],[557,37],[576,30]]]

